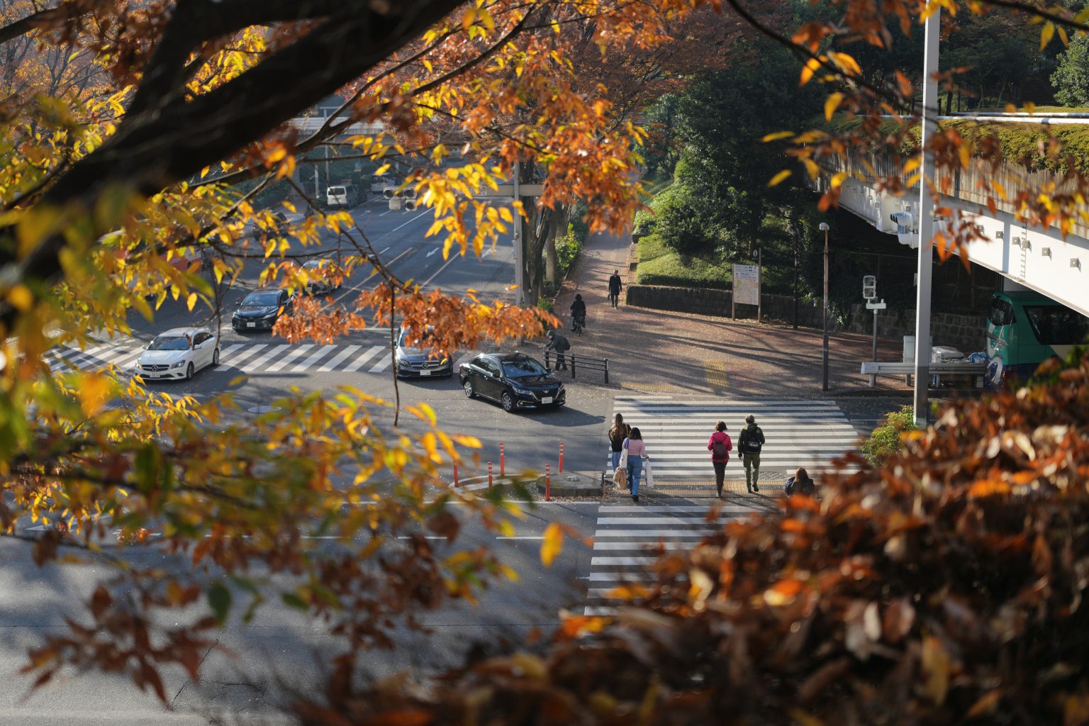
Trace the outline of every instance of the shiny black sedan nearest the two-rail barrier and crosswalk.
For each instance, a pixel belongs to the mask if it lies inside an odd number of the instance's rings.
[[[466,396],[491,398],[505,411],[562,406],[567,398],[563,383],[524,353],[479,355],[458,366],[457,377]]]

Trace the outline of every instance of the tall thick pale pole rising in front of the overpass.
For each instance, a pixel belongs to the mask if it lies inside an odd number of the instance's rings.
[[[915,424],[926,428],[927,386],[930,385],[930,273],[933,268],[932,237],[934,201],[928,184],[934,180],[934,155],[929,150],[938,133],[938,40],[941,37],[941,7],[933,5],[927,19],[922,56],[922,174],[919,177],[919,263],[915,302]]]

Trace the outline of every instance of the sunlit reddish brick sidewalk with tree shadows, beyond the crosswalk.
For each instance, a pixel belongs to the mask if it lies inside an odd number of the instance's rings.
[[[587,327],[579,337],[566,332],[572,353],[609,359],[613,386],[648,394],[714,394],[828,398],[869,391],[859,373],[872,356],[872,339],[859,333],[829,335],[829,391],[821,390],[820,330],[755,320],[651,310],[624,304],[613,309],[608,280],[619,270],[629,276],[629,237],[591,235],[555,302],[555,313],[570,325],[570,306],[580,293]],[[897,360],[897,339],[878,340],[878,358]],[[613,372],[615,371],[615,372]],[[877,390],[909,393],[902,377],[881,377]]]

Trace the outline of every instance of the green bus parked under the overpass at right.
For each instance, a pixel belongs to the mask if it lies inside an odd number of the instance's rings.
[[[987,386],[1028,380],[1044,360],[1065,359],[1089,337],[1089,318],[1031,291],[994,293],[987,316]]]

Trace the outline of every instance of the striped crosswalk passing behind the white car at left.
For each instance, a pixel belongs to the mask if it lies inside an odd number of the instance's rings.
[[[91,371],[117,368],[134,373],[136,359],[144,353],[135,342],[129,345],[96,345],[79,350],[58,346],[46,353],[45,360],[56,372]],[[217,371],[243,373],[302,373],[342,371],[345,373],[383,373],[390,369],[390,344],[382,345],[295,345],[277,343],[234,343],[220,347]]]

